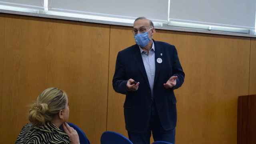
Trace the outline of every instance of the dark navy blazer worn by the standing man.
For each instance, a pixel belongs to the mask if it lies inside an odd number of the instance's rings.
[[[156,63],[154,102],[163,128],[170,130],[176,127],[177,121],[176,98],[173,90],[183,84],[185,74],[175,46],[158,41],[154,41],[154,46]],[[157,58],[161,58],[162,63],[158,63]],[[172,89],[166,89],[164,84],[171,76],[178,76],[177,84]],[[137,91],[127,90],[126,83],[130,78],[140,82]],[[137,44],[118,52],[112,84],[116,92],[126,94],[124,102],[126,130],[146,132],[150,124],[151,90]]]

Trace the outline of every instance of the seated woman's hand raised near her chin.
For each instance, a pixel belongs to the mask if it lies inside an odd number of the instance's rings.
[[[66,122],[62,125],[63,125],[63,128],[64,128],[64,131],[69,136],[69,139],[71,141],[70,144],[80,144],[79,137],[78,137],[78,134],[77,134],[76,130],[74,128],[70,127]]]

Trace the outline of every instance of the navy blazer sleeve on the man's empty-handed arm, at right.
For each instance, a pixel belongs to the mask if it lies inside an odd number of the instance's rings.
[[[172,54],[173,54],[172,74],[173,76],[178,76],[178,78],[176,79],[176,86],[174,86],[173,89],[177,89],[180,86],[182,86],[185,78],[185,73],[183,72],[182,66],[180,64],[180,60],[178,58],[178,52],[175,46],[173,48]]]

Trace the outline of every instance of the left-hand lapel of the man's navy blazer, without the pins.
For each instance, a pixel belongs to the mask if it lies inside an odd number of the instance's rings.
[[[150,88],[149,82],[148,82],[148,77],[147,77],[146,70],[145,70],[145,66],[143,64],[142,56],[140,53],[140,48],[138,45],[136,45],[134,52],[135,52],[134,58],[136,60],[136,65],[138,66],[144,80],[147,82],[148,87]]]

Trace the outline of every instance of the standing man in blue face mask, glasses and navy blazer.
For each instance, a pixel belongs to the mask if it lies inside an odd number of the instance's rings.
[[[134,21],[136,44],[118,52],[113,88],[126,94],[124,118],[129,139],[134,144],[154,141],[175,143],[177,121],[174,89],[185,74],[173,45],[154,41],[156,32],[145,17]]]

